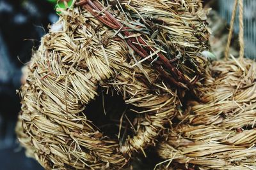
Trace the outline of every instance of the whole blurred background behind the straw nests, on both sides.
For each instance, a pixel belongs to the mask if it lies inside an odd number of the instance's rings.
[[[234,0],[205,0],[211,7],[209,26],[212,29],[211,51],[223,57],[228,25]],[[0,0],[0,170],[42,169],[25,156],[15,137],[15,124],[20,110],[16,90],[20,87],[21,69],[49,24],[58,20],[54,0]],[[246,57],[256,57],[256,1],[244,0],[244,40]],[[239,31],[238,22],[234,29]],[[232,41],[231,53],[237,55],[237,37]]]

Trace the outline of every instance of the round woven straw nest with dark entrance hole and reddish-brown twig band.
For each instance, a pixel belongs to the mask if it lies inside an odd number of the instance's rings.
[[[33,53],[17,133],[45,169],[119,169],[154,145],[181,106],[178,96],[195,93],[206,64],[205,11],[197,0],[80,4],[61,11]],[[109,13],[122,23],[119,30]],[[108,124],[95,126],[104,113],[93,122],[86,106],[111,92],[132,110],[111,117],[116,133],[107,136],[100,127]]]

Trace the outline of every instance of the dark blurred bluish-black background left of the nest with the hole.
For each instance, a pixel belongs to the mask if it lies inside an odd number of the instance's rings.
[[[34,170],[42,167],[24,155],[15,137],[20,110],[16,89],[21,68],[39,45],[47,26],[56,22],[54,4],[46,0],[0,0],[0,169]],[[34,47],[33,47],[34,46]]]

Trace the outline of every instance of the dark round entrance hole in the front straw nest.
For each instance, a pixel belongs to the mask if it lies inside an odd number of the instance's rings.
[[[124,143],[127,136],[136,134],[141,115],[132,110],[138,111],[140,108],[125,104],[122,96],[115,91],[106,92],[99,89],[98,94],[95,100],[87,104],[83,113],[103,133],[103,136]],[[121,126],[120,122],[122,122]]]

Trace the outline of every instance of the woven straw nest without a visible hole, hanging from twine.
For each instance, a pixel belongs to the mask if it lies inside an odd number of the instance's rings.
[[[213,62],[201,102],[179,115],[157,152],[191,169],[256,169],[256,62]]]

